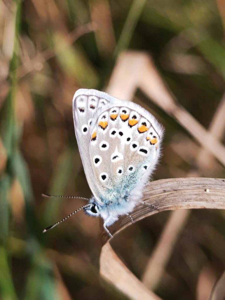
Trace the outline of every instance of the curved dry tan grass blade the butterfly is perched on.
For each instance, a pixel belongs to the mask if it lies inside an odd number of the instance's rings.
[[[157,206],[158,210],[149,205],[137,205],[131,213],[134,222],[164,210],[182,208],[225,209],[225,179],[190,177],[157,180],[146,186],[142,200]],[[119,221],[110,226],[109,230],[115,236],[129,225],[131,225],[130,217],[122,216]],[[110,239],[103,230],[100,254],[101,276],[113,283],[131,299],[140,299],[138,298],[140,293],[143,293],[142,299],[159,299],[153,292],[151,295],[146,294],[147,289],[143,283],[126,268],[110,247],[108,243]]]

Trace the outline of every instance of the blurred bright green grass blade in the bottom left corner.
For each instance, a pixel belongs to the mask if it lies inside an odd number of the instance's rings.
[[[8,265],[7,252],[3,247],[0,247],[0,286],[1,300],[17,299],[11,271]]]

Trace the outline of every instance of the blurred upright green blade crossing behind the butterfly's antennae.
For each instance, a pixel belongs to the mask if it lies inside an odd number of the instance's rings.
[[[61,155],[52,176],[49,193],[52,193],[53,195],[64,193],[67,183],[70,180],[73,169],[73,160],[74,152],[71,149],[67,149]],[[51,225],[51,223],[55,223],[55,217],[58,214],[61,201],[63,201],[63,198],[46,198],[46,207],[42,215],[45,224]]]

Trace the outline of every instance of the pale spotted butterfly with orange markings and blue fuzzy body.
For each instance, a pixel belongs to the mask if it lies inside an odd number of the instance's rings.
[[[133,222],[129,213],[141,202],[143,187],[161,155],[164,128],[140,105],[94,89],[76,91],[73,120],[93,196],[44,232],[82,209],[90,216],[102,217],[104,229],[112,237],[107,227],[120,215],[130,216]]]

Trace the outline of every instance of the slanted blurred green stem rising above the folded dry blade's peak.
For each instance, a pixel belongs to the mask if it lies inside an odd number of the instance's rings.
[[[116,45],[114,56],[117,56],[121,51],[127,49],[129,46],[145,2],[146,0],[133,0],[123,30],[119,37],[119,41]]]

